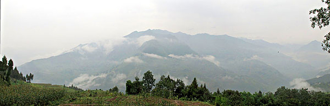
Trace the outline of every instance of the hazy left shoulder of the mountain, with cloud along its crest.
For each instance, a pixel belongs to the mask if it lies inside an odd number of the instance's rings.
[[[81,44],[65,53],[37,59],[18,67],[23,73],[35,74],[35,82],[64,84],[80,74],[99,74],[118,61],[136,53],[138,46],[128,41],[112,46],[112,41]]]

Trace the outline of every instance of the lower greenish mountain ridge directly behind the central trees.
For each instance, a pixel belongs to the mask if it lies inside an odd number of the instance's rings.
[[[172,78],[179,78],[184,81],[185,84],[190,84],[194,77],[198,79],[199,84],[206,83],[206,86],[211,91],[215,91],[217,88],[222,89],[234,89],[239,91],[255,92],[272,91],[276,87],[271,82],[262,82],[257,77],[250,78],[246,75],[237,75],[229,70],[224,70],[217,67],[210,61],[193,59],[193,58],[171,58],[167,59],[154,59],[148,56],[138,56],[143,62],[130,62],[122,63],[118,65],[109,73],[124,74],[125,78],[121,81],[128,79],[134,80],[135,76],[139,76],[140,79],[145,71],[151,70],[158,81],[160,75],[170,75]],[[112,77],[103,79],[104,81],[112,81]],[[274,81],[276,82],[276,81]],[[101,85],[100,87],[108,87],[112,84]],[[124,89],[124,83],[118,84],[121,89]]]

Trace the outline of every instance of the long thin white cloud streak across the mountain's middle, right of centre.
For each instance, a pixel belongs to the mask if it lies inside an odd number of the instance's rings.
[[[220,66],[220,62],[216,61],[215,57],[213,55],[207,55],[207,56],[200,57],[200,56],[195,55],[195,54],[185,54],[185,55],[170,54],[168,56],[172,57],[172,58],[178,58],[178,59],[193,58],[193,59],[207,60],[207,61],[210,61],[210,62],[214,63],[216,66]]]

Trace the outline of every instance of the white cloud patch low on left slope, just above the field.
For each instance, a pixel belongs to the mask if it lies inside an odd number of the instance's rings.
[[[100,75],[88,75],[88,74],[80,74],[77,78],[73,79],[69,85],[78,86],[82,89],[88,89],[92,86],[100,86],[95,82],[95,79],[98,78],[105,78],[107,74],[100,74]]]

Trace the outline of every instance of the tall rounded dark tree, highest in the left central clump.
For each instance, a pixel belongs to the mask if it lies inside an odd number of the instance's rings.
[[[144,73],[143,78],[142,78],[142,82],[143,85],[145,86],[145,90],[146,92],[150,92],[152,87],[155,86],[155,78],[153,78],[153,74],[151,71],[147,71],[146,73]]]

